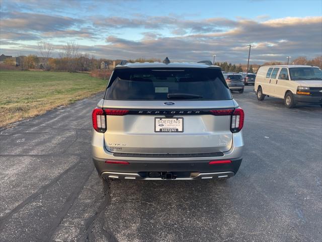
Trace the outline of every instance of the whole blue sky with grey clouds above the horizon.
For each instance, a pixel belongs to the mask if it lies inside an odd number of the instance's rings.
[[[0,54],[75,41],[95,57],[245,63],[322,54],[322,1],[0,0]]]

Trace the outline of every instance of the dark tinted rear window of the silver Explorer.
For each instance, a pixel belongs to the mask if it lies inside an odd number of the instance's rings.
[[[229,88],[219,69],[116,69],[105,92],[109,100],[229,100]]]

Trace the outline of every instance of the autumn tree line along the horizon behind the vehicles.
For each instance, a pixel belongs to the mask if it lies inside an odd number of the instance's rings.
[[[53,46],[47,42],[38,42],[38,51],[41,57],[36,55],[18,56],[17,58],[7,58],[5,64],[8,66],[18,66],[21,70],[28,69],[44,69],[46,71],[93,71],[100,69],[101,63],[105,62],[111,64],[111,59],[97,59],[94,56],[90,57],[89,54],[81,54],[78,52],[78,45],[75,42],[70,41],[66,43],[59,52],[59,58],[53,58],[52,55]],[[160,62],[157,58],[137,58],[129,59],[129,62]],[[267,62],[261,66],[267,65],[285,65],[282,62]],[[322,56],[317,56],[311,60],[308,60],[305,56],[300,56],[290,62],[292,65],[309,65],[318,66],[322,68]],[[247,71],[245,65],[235,65],[227,62],[216,62],[216,66],[219,66],[224,72],[245,72]],[[258,66],[258,65],[256,65]],[[250,65],[248,72],[254,73],[253,65]]]

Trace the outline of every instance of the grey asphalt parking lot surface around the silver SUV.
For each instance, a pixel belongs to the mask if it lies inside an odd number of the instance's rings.
[[[322,241],[322,108],[233,96],[246,113],[226,181],[112,181],[91,160],[78,101],[0,130],[0,241]]]

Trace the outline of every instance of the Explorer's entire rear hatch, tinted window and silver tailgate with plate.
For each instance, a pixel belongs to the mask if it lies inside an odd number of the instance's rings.
[[[111,152],[215,153],[232,145],[224,114],[234,102],[220,69],[116,69],[103,109]]]

